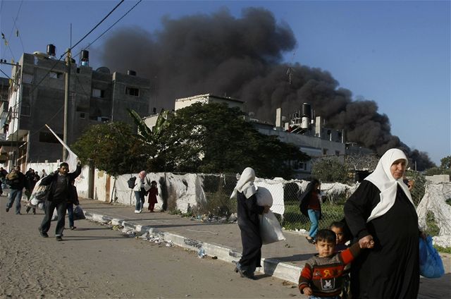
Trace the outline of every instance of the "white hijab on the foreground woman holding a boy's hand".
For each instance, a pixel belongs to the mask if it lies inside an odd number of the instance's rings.
[[[412,205],[414,205],[414,202],[412,201],[412,195],[410,195],[410,191],[409,188],[407,188],[407,185],[404,184],[402,178],[399,178],[397,180],[393,178],[393,175],[390,171],[390,166],[392,166],[393,162],[398,159],[406,160],[407,166],[407,157],[404,152],[402,152],[402,150],[388,150],[379,160],[378,165],[376,166],[376,169],[373,171],[373,173],[365,178],[366,181],[370,181],[371,183],[376,185],[379,190],[381,190],[381,202],[379,202],[376,207],[374,207],[373,211],[371,211],[369,218],[366,220],[367,223],[372,219],[382,216],[383,214],[388,212],[391,207],[393,207],[396,199],[397,185],[401,186],[405,195],[407,195],[407,198],[409,198],[410,202],[412,202]]]

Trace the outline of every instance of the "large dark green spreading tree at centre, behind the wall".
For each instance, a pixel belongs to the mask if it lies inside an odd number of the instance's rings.
[[[161,136],[169,171],[236,173],[250,166],[257,176],[288,178],[287,161],[306,161],[298,147],[255,130],[238,108],[193,104],[179,109]]]

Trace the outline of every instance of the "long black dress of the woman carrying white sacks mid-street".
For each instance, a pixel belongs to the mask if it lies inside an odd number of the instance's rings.
[[[261,235],[259,214],[264,207],[257,205],[257,196],[254,194],[246,198],[243,193],[237,193],[238,226],[241,231],[242,257],[241,269],[254,273],[256,267],[261,267]]]

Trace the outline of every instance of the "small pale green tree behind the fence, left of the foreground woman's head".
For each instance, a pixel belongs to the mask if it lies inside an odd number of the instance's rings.
[[[317,159],[311,169],[311,175],[328,183],[346,183],[347,166],[337,159]]]

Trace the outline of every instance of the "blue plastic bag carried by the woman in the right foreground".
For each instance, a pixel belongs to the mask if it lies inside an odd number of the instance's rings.
[[[433,248],[431,236],[419,239],[420,274],[428,279],[437,279],[445,274],[443,262],[437,250]]]

